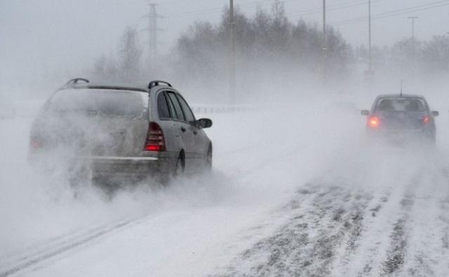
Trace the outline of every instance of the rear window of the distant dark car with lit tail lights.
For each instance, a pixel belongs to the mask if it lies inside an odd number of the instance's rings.
[[[389,97],[377,101],[375,112],[426,112],[424,100],[420,98]]]

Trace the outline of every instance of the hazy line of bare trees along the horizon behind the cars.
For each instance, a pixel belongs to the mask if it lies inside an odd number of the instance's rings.
[[[229,74],[229,19],[229,8],[224,8],[218,24],[192,24],[177,39],[173,51],[161,59],[168,62],[159,62],[161,66],[157,69],[151,66],[157,61],[142,58],[137,30],[127,28],[117,53],[98,58],[91,73],[98,79],[127,82],[168,74],[170,79],[180,83],[195,80],[222,86]],[[289,77],[309,74],[307,76],[318,79],[324,58],[326,74],[332,79],[342,79],[368,63],[366,46],[354,48],[331,26],[326,27],[327,48],[324,52],[321,27],[304,20],[291,22],[279,0],[274,1],[271,11],[258,8],[253,16],[236,8],[234,21],[237,74],[241,79],[266,79],[274,72]],[[373,47],[372,57],[376,72],[447,76],[449,36],[434,36],[429,41],[403,39],[390,47]]]

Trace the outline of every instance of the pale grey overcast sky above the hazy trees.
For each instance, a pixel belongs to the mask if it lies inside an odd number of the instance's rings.
[[[155,0],[156,1],[156,0]],[[257,6],[269,10],[272,0],[234,0],[236,6],[253,15]],[[303,18],[322,24],[321,0],[283,1],[290,20]],[[0,0],[0,81],[11,81],[18,73],[27,76],[36,68],[52,72],[57,68],[91,65],[101,54],[114,53],[126,26],[139,30],[147,43],[148,1],[144,0]],[[161,52],[173,47],[180,33],[194,21],[218,22],[228,0],[159,0]],[[347,41],[360,45],[368,41],[368,0],[327,0],[329,25],[340,30]],[[415,9],[407,9],[417,7]],[[434,8],[430,8],[434,7]],[[417,11],[422,10],[422,11]],[[389,13],[403,11],[402,14]],[[413,11],[413,12],[410,12]],[[410,12],[410,13],[409,13]],[[391,45],[411,34],[408,16],[418,16],[415,33],[419,39],[449,32],[449,0],[372,0],[373,43]],[[394,16],[389,16],[394,15]],[[343,22],[344,20],[359,20]],[[24,67],[24,65],[27,65]]]

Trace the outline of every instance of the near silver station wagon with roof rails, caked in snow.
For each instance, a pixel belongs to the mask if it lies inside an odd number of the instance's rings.
[[[210,119],[196,120],[164,81],[133,88],[73,79],[32,124],[29,158],[68,161],[69,168],[88,168],[93,176],[193,172],[212,166],[212,142],[203,130],[210,126]]]

